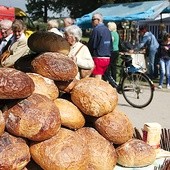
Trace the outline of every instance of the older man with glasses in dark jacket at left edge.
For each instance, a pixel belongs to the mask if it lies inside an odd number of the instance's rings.
[[[4,53],[11,44],[13,38],[12,21],[4,19],[0,22],[0,54]]]

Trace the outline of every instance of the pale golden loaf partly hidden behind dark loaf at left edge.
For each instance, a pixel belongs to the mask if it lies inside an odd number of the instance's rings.
[[[27,73],[27,75],[35,84],[33,93],[43,94],[51,100],[55,100],[59,96],[58,88],[53,80],[36,73]]]

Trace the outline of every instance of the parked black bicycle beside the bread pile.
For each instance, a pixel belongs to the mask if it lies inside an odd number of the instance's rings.
[[[125,100],[135,108],[144,108],[148,106],[154,95],[154,84],[144,73],[146,71],[142,66],[132,65],[132,57],[121,54],[121,65],[116,65],[120,70],[120,80],[115,82],[113,77],[106,71],[103,76],[112,87],[116,88],[119,94],[123,94]]]

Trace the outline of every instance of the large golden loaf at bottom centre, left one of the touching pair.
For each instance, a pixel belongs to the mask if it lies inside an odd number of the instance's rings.
[[[30,146],[33,160],[43,169],[87,170],[88,148],[76,132],[61,128],[52,138]]]

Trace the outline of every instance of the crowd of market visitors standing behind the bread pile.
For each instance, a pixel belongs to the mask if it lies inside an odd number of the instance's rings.
[[[102,79],[108,74],[116,81],[117,67],[120,51],[129,55],[140,50],[145,51],[148,61],[148,76],[150,79],[159,78],[158,88],[162,88],[164,80],[166,87],[170,89],[170,34],[166,31],[166,25],[159,25],[158,39],[148,30],[147,25],[138,29],[139,43],[135,46],[122,41],[117,31],[115,22],[103,22],[100,13],[94,13],[91,19],[92,31],[88,42],[82,41],[83,32],[76,25],[74,19],[63,19],[63,28],[59,28],[59,22],[51,19],[47,22],[48,32],[55,33],[68,41],[70,53],[68,57],[74,60],[80,68],[77,79],[82,70],[89,70],[86,76]],[[28,47],[28,37],[24,34],[26,26],[22,20],[0,21],[0,67],[13,67],[15,62],[31,53]]]

